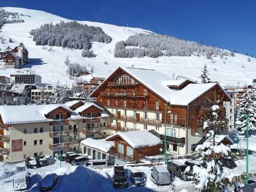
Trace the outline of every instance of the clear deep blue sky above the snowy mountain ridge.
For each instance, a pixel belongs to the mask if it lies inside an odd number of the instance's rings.
[[[0,7],[138,27],[256,56],[254,0],[1,0]]]

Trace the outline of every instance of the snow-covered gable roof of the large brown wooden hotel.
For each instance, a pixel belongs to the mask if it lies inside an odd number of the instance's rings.
[[[171,76],[161,73],[157,70],[139,69],[139,68],[122,68],[118,67],[108,78],[106,78],[90,96],[92,96],[117,70],[123,70],[130,74],[135,80],[139,81],[145,87],[153,91],[160,98],[173,105],[188,105],[211,88],[219,86],[218,83],[190,83],[181,90],[172,90],[169,85],[181,84],[184,80],[175,80]],[[223,90],[223,89],[222,89]],[[224,90],[223,90],[224,91]],[[225,91],[224,91],[225,93]],[[227,95],[227,94],[226,94]],[[228,97],[228,95],[227,95]]]

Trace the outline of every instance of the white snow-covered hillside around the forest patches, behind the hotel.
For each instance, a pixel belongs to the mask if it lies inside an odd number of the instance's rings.
[[[109,24],[95,22],[80,22],[89,26],[98,26],[112,37],[110,44],[93,42],[92,50],[97,55],[94,58],[81,57],[82,50],[63,49],[62,47],[53,47],[53,51],[42,49],[43,46],[36,46],[29,32],[32,29],[40,27],[45,23],[59,23],[61,20],[69,22],[69,19],[62,18],[43,11],[29,10],[23,8],[4,8],[6,11],[28,14],[31,17],[22,17],[25,22],[18,24],[5,24],[0,32],[0,36],[7,39],[5,44],[0,44],[1,49],[7,46],[11,48],[23,42],[29,51],[30,63],[23,69],[0,69],[0,75],[10,75],[13,73],[35,73],[42,76],[42,82],[71,85],[75,79],[69,79],[67,76],[67,66],[64,61],[69,56],[71,63],[77,62],[80,65],[87,66],[88,69],[94,66],[96,76],[108,76],[118,66],[157,69],[168,75],[185,75],[198,79],[204,64],[208,66],[210,77],[223,85],[243,86],[249,84],[256,78],[256,58],[248,62],[248,56],[236,53],[235,57],[227,56],[226,59],[214,57],[213,60],[201,56],[190,57],[158,57],[158,58],[115,58],[114,49],[116,42],[126,40],[130,35],[136,33],[150,32],[138,28],[118,27]],[[12,38],[14,42],[8,42]],[[105,65],[105,61],[109,65]],[[2,63],[3,65],[3,63]],[[1,66],[0,66],[1,68]],[[81,78],[90,79],[92,75]]]

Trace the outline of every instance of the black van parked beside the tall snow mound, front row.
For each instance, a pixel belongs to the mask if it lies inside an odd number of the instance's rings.
[[[115,188],[127,188],[129,186],[123,166],[114,166],[113,181]]]

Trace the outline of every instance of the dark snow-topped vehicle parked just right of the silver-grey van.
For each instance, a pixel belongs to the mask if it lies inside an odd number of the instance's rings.
[[[189,176],[192,176],[193,174],[190,172],[185,172],[186,168],[187,165],[176,160],[167,162],[167,169],[173,176],[179,177],[185,181],[189,181],[191,180]]]

